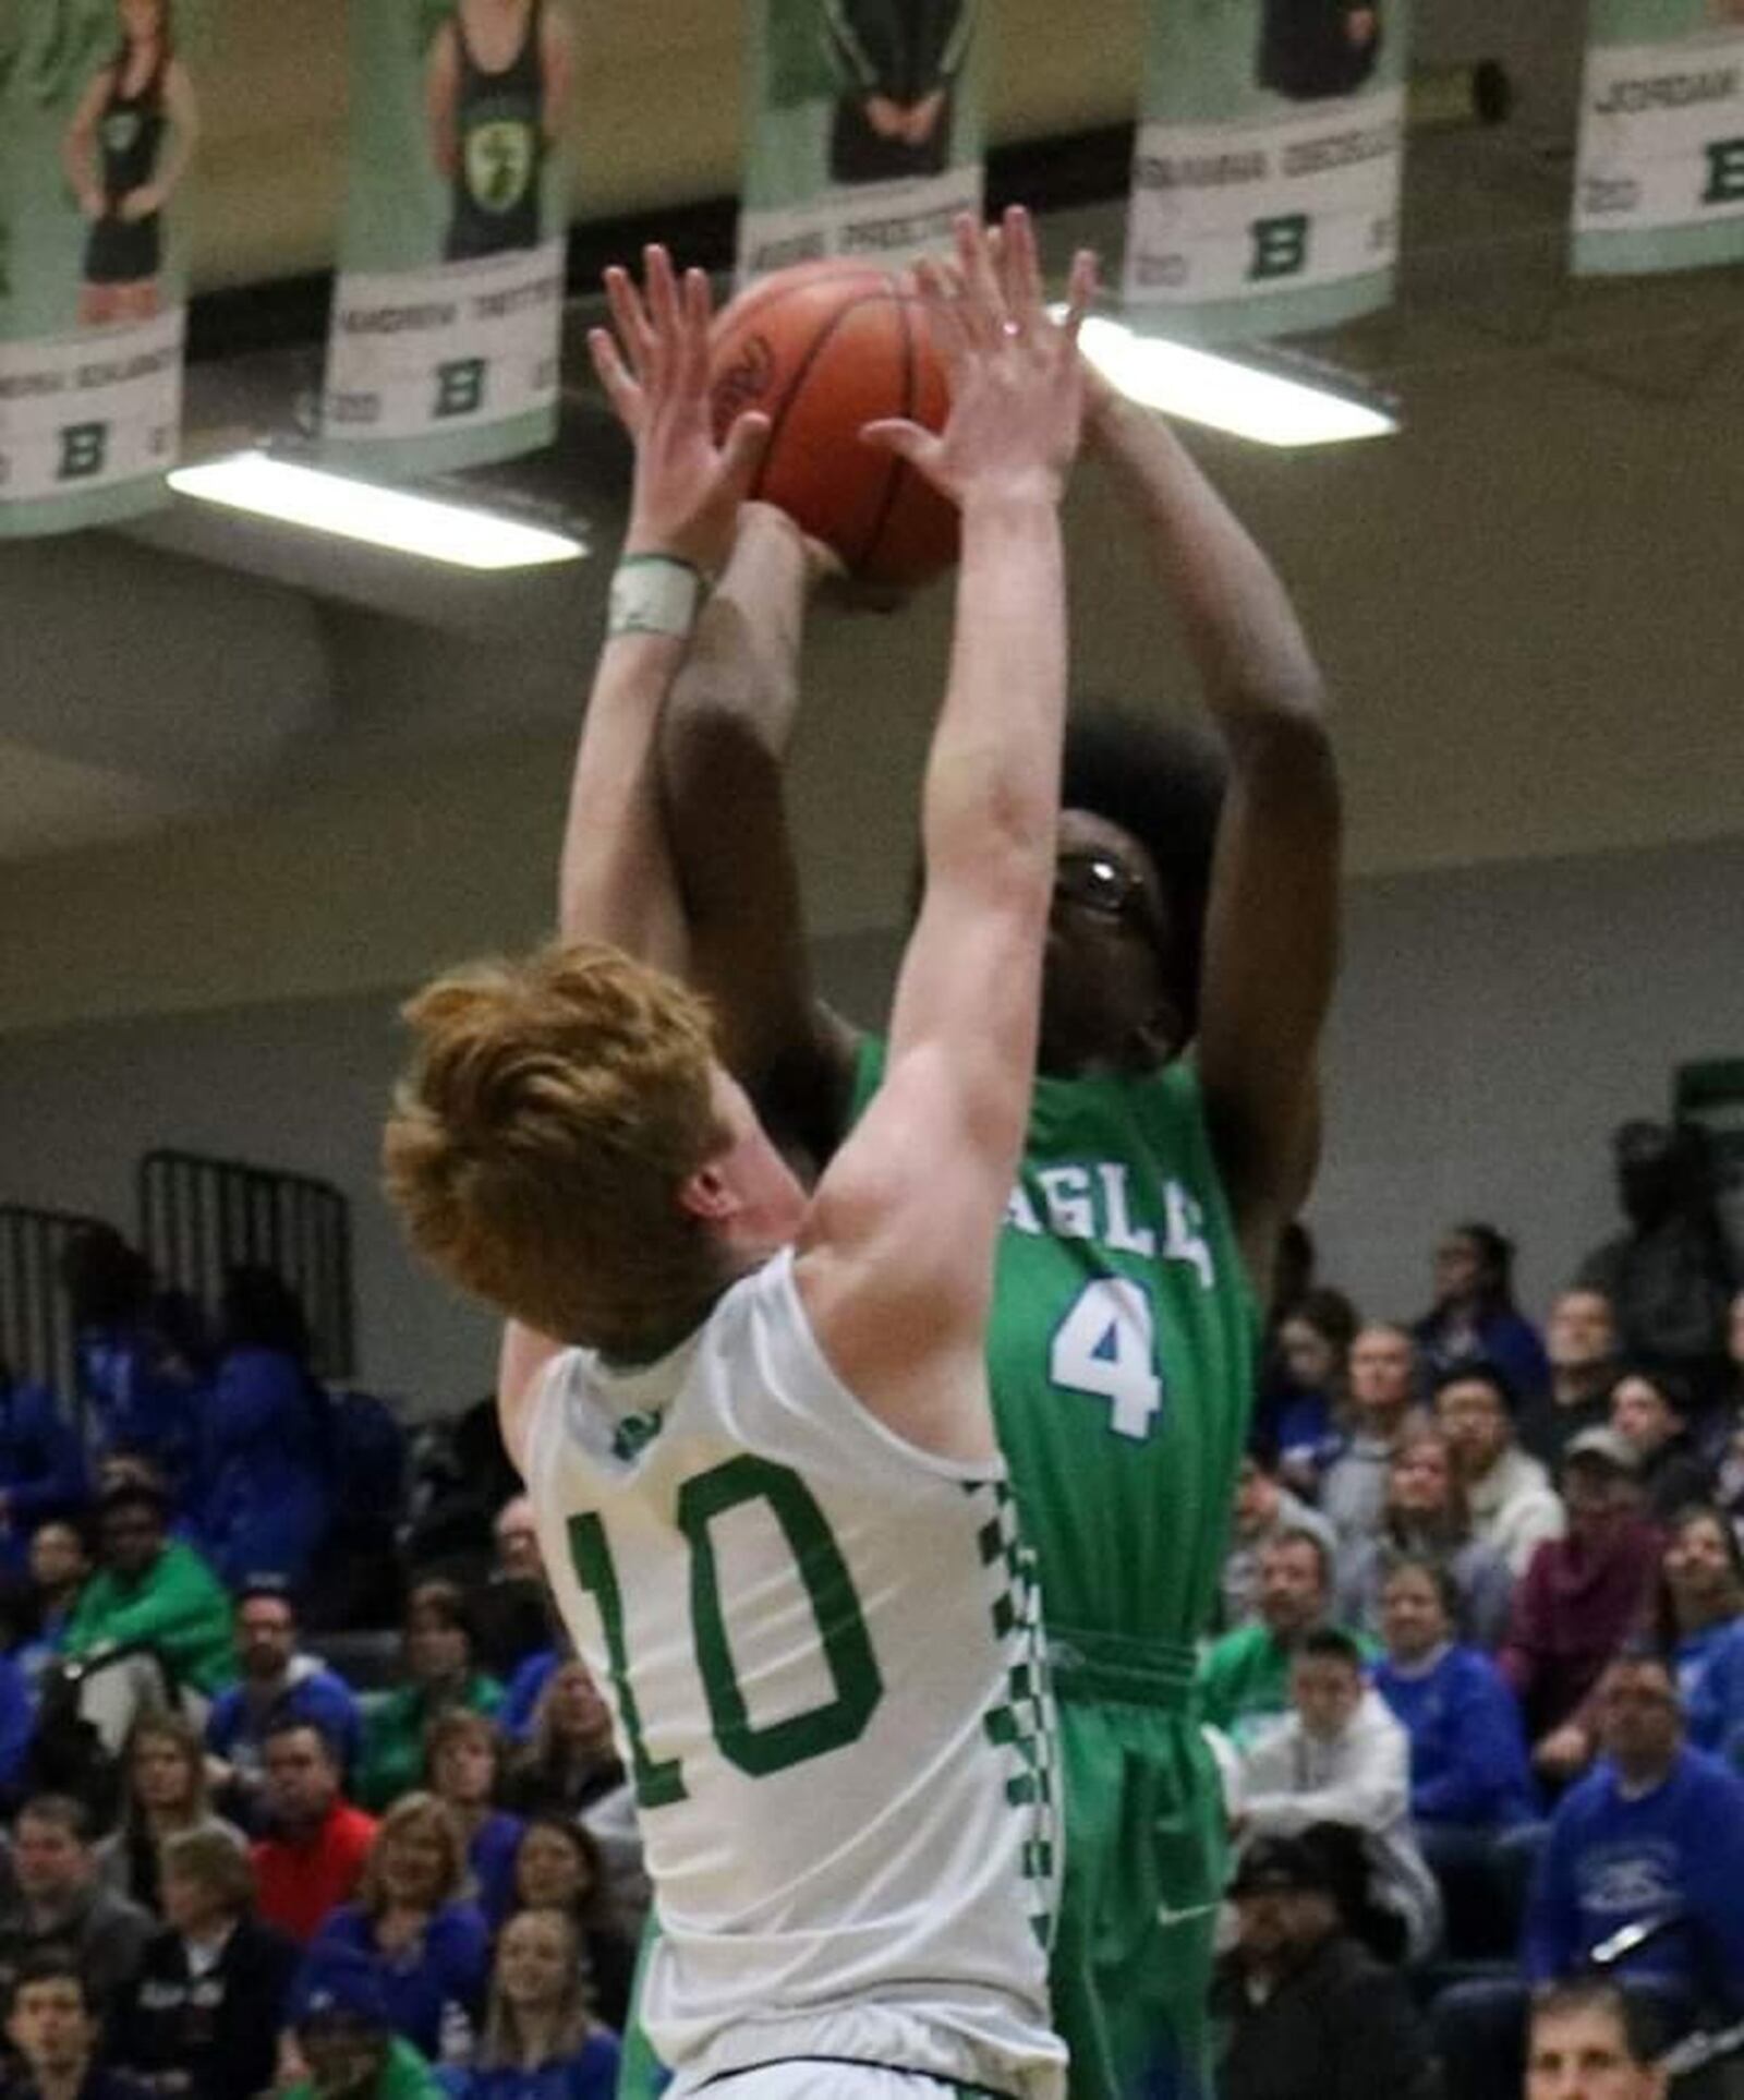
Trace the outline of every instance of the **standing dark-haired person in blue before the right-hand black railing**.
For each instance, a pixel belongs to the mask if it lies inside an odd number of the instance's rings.
[[[225,1581],[304,1579],[332,1514],[329,1445],[296,1292],[271,1268],[233,1268],[206,1415],[206,1552]]]

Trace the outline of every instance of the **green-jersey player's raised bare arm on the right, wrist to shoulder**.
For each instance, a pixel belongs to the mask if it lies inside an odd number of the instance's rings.
[[[1161,416],[1089,378],[1089,443],[1144,525],[1230,762],[1198,1073],[1263,1292],[1314,1178],[1316,1060],[1339,926],[1339,783],[1320,672],[1272,565]]]

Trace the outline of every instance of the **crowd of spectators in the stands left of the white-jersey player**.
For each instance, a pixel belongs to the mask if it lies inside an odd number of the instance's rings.
[[[640,1838],[489,1413],[413,1478],[269,1270],[65,1281],[78,1390],[0,1371],[0,2092],[604,2100]]]

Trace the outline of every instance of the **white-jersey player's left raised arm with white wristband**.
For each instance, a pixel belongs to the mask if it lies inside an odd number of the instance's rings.
[[[720,567],[768,439],[741,416],[722,447],[709,430],[709,288],[680,286],[663,248],[646,252],[646,300],[607,271],[617,340],[596,328],[594,368],[636,443],[630,529],[611,590],[558,861],[565,941],[609,941],[682,974],[684,911],[659,798],[659,714],[684,662],[701,580]],[[510,1323],[497,1371],[504,1445],[520,1466],[527,1396],[556,1342]],[[525,1468],[523,1468],[525,1470]]]

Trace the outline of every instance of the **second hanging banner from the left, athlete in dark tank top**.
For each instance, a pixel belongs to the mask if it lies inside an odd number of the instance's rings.
[[[428,475],[556,435],[567,0],[350,0],[321,449]]]

